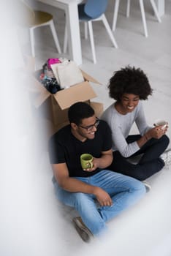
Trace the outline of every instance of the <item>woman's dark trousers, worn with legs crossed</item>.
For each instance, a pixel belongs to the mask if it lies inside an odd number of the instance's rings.
[[[129,135],[128,138],[126,138],[126,141],[127,143],[132,143],[140,138],[141,135]],[[123,173],[127,176],[143,181],[145,178],[159,172],[159,170],[164,167],[164,162],[160,158],[160,155],[164,152],[169,143],[170,139],[167,135],[163,135],[159,140],[154,138],[148,140],[148,142],[145,143],[139,151],[131,156],[134,157],[139,154],[143,154],[137,165],[129,162],[128,159],[123,157],[119,151],[114,151],[113,163],[107,167],[107,169]]]

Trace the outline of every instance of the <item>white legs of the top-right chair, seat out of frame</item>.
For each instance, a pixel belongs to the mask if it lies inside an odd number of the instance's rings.
[[[156,15],[157,20],[161,23],[161,18],[159,17],[159,13],[156,7],[156,3],[154,0],[150,0],[151,5],[153,7],[153,12]],[[145,19],[145,10],[144,10],[144,4],[143,0],[139,0],[140,2],[140,10],[141,10],[141,15],[142,15],[142,23],[144,26],[144,32],[145,32],[145,37],[148,37],[148,29],[147,29],[147,23]],[[120,0],[115,0],[115,7],[114,7],[114,13],[113,13],[113,26],[112,30],[115,31],[115,26],[118,18],[118,7],[120,4]],[[126,17],[129,17],[129,11],[130,11],[130,0],[127,0],[127,7],[126,7]]]

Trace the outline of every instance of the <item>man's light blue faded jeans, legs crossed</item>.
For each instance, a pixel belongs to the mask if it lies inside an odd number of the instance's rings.
[[[58,200],[67,206],[74,207],[84,224],[95,236],[107,230],[107,221],[137,203],[145,195],[145,186],[141,181],[110,170],[101,170],[88,178],[75,178],[92,186],[101,187],[113,200],[113,206],[97,206],[94,195],[67,192],[61,189],[56,182],[54,183]]]

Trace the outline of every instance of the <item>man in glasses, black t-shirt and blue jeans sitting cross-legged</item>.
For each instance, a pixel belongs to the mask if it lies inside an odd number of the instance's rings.
[[[145,187],[134,178],[105,170],[113,161],[111,132],[90,105],[77,102],[68,116],[70,124],[50,138],[50,163],[56,195],[80,214],[73,222],[87,242],[107,230],[107,221],[137,203],[145,195]],[[93,167],[86,170],[80,165],[84,153],[94,157]]]

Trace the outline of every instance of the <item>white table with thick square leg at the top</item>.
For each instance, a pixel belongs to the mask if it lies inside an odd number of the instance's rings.
[[[62,9],[66,13],[66,24],[68,28],[69,39],[69,57],[77,63],[82,64],[82,53],[80,44],[80,26],[77,12],[77,4],[83,0],[38,0],[44,4],[50,4]],[[164,15],[165,0],[156,0],[159,15]]]

